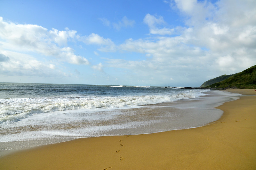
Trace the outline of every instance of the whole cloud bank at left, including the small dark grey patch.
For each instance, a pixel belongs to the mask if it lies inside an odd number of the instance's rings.
[[[5,22],[0,17],[0,74],[8,77],[70,76],[61,63],[89,64],[68,46],[68,42],[76,37],[76,31],[68,28],[49,31],[39,25]]]

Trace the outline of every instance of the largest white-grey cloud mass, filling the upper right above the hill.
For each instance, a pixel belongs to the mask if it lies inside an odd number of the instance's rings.
[[[153,65],[161,65],[161,68],[178,66],[188,70],[226,70],[225,74],[231,74],[255,63],[256,11],[252,6],[256,2],[218,1],[211,4],[208,1],[184,0],[171,3],[172,8],[175,5],[180,11],[180,15],[187,16],[187,27],[181,29],[179,36],[128,39],[119,46],[120,49],[150,54]],[[234,11],[243,17],[236,18]],[[165,21],[161,16],[147,14],[143,22],[148,25],[151,34],[165,35],[173,32],[163,27]],[[127,63],[120,68],[127,67]]]

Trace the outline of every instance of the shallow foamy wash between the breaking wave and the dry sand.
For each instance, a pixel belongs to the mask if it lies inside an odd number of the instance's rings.
[[[204,95],[200,97],[144,105],[139,108],[113,109],[103,112],[99,111],[98,113],[92,112],[91,116],[94,121],[90,122],[86,121],[86,117],[83,117],[84,115],[86,116],[86,114],[79,114],[77,110],[76,112],[78,114],[75,114],[75,117],[78,115],[82,116],[81,119],[79,119],[81,121],[72,121],[73,113],[66,113],[63,114],[65,117],[63,123],[60,123],[61,121],[58,121],[58,123],[52,122],[51,126],[47,126],[49,121],[47,119],[49,116],[47,113],[34,115],[28,118],[30,122],[34,122],[35,120],[38,122],[34,123],[34,125],[33,123],[26,124],[26,121],[19,121],[12,129],[4,129],[4,127],[1,129],[0,157],[8,154],[8,152],[13,152],[13,150],[18,151],[40,145],[70,141],[77,138],[137,135],[200,127],[214,122],[221,117],[223,111],[214,109],[215,107],[225,101],[237,98],[235,97],[236,94],[230,92],[207,90],[203,93]],[[46,119],[42,119],[42,117],[40,119],[40,115],[43,116],[43,118],[46,117]],[[108,118],[103,115],[106,115]],[[98,116],[103,118],[103,120],[97,121]],[[63,119],[61,116],[52,117],[52,119],[58,118]],[[46,123],[46,126],[44,126],[44,123]],[[96,129],[98,127],[97,131],[93,131],[95,127],[92,125],[95,125],[95,123]],[[106,129],[104,127],[106,127]],[[93,131],[93,133],[90,133],[90,131]],[[66,135],[62,135],[64,132]],[[60,133],[60,135],[58,135],[58,133]],[[78,135],[75,136],[73,134]]]

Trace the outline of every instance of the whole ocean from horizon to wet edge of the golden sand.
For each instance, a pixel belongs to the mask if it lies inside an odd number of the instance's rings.
[[[225,91],[125,85],[0,83],[0,151],[76,138],[194,128],[237,99]]]

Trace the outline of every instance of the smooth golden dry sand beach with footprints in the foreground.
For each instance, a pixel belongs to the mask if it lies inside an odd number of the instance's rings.
[[[1,157],[0,169],[256,169],[256,91],[227,91],[248,96],[206,126],[39,146]]]

